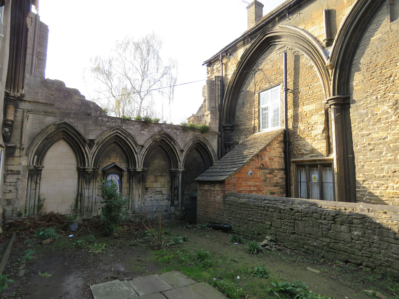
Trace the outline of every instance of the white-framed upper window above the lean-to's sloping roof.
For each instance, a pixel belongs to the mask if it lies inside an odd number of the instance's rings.
[[[259,93],[259,129],[280,127],[280,85]]]

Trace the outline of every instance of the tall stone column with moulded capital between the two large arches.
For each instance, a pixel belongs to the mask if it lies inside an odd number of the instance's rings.
[[[334,189],[336,201],[349,200],[349,185],[347,183],[346,139],[343,106],[349,103],[349,96],[335,96],[328,98],[326,106],[331,112],[332,142],[334,158]]]

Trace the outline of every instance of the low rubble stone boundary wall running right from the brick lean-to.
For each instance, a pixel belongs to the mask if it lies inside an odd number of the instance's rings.
[[[243,194],[223,203],[237,234],[399,275],[398,207]]]

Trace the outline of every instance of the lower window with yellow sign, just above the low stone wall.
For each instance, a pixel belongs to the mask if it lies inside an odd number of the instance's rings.
[[[299,198],[334,200],[331,164],[297,166],[296,196]]]

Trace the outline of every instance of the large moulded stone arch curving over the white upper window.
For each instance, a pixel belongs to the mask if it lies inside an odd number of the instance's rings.
[[[306,55],[314,65],[326,98],[330,97],[330,73],[327,69],[327,54],[319,42],[305,30],[281,25],[274,30],[258,35],[252,45],[242,54],[224,95],[223,125],[233,125],[235,107],[242,85],[257,60],[273,45],[286,45]]]

